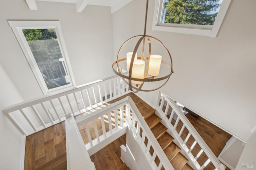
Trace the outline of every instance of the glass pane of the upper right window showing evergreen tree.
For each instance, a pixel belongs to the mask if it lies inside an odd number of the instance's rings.
[[[165,0],[161,23],[213,25],[222,0]]]

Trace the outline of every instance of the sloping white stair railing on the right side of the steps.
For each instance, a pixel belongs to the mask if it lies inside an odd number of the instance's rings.
[[[193,125],[184,116],[175,101],[161,92],[158,97],[156,114],[168,127],[168,130],[170,130],[172,136],[178,142],[178,146],[181,146],[182,150],[186,153],[186,156],[190,158],[190,163],[192,163],[196,169],[202,170],[210,162],[218,170],[224,170],[226,168],[220,163],[200,134],[198,134]],[[176,120],[173,119],[174,117]],[[188,141],[190,144],[188,144]],[[198,162],[197,159],[203,155],[205,162]]]

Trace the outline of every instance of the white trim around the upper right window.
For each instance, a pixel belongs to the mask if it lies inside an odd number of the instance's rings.
[[[231,0],[223,0],[220,10],[216,17],[213,26],[203,26],[203,25],[186,25],[186,24],[161,24],[162,12],[164,8],[164,0],[156,0],[154,17],[153,17],[153,31],[165,31],[165,32],[176,32],[184,34],[194,34],[200,36],[216,37],[222,21],[228,10]]]

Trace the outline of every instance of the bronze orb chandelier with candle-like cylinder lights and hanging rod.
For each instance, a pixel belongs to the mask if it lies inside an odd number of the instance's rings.
[[[172,57],[170,55],[169,50],[166,48],[166,46],[158,39],[146,35],[146,23],[147,23],[147,15],[148,15],[148,0],[146,2],[146,14],[145,14],[145,25],[144,25],[144,34],[134,36],[132,38],[129,38],[122,44],[118,51],[117,59],[112,64],[112,68],[114,70],[114,73],[122,77],[123,81],[129,85],[129,88],[134,93],[137,93],[138,91],[154,91],[156,89],[159,89],[163,85],[166,84],[166,82],[169,80],[170,76],[173,73],[172,69]],[[126,58],[120,58],[120,53],[122,51],[122,48],[126,43],[133,39],[138,39],[138,42],[136,43],[133,52],[126,53]],[[151,54],[151,45],[152,40],[160,43],[162,47],[164,47],[164,51],[166,53],[165,56],[167,56],[168,59],[170,59],[169,62],[163,61],[161,55],[157,54]],[[145,42],[148,42],[148,53],[145,56],[144,49],[145,49]],[[141,56],[138,56],[138,49],[140,47],[140,44],[142,43],[141,47]],[[122,69],[120,69],[120,65],[125,64],[126,61],[126,70],[127,73],[123,73]],[[145,67],[146,65],[146,67]],[[168,71],[164,74],[160,73],[160,68],[167,67]],[[117,68],[117,69],[115,69]],[[157,85],[156,88],[153,89],[142,89],[142,86],[145,82],[153,82],[153,81],[161,81],[165,80],[164,83],[162,83],[160,86]]]

